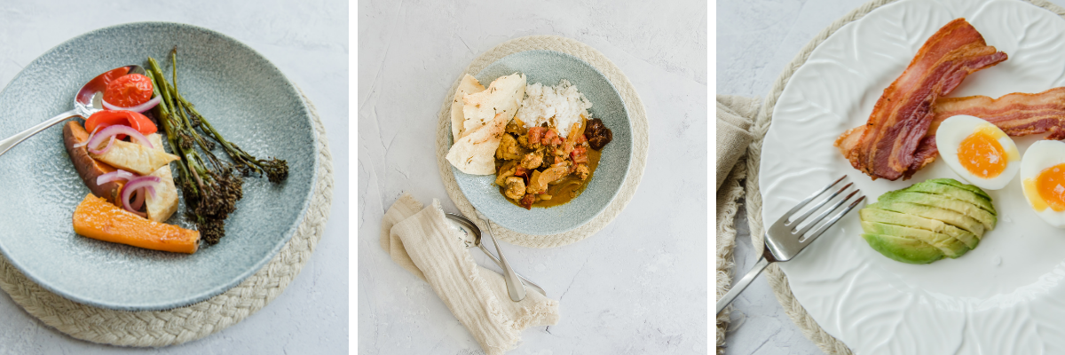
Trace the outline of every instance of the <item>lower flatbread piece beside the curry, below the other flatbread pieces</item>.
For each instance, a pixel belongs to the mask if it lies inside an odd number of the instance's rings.
[[[513,114],[510,115],[511,117]],[[510,117],[501,113],[485,127],[455,142],[447,151],[447,161],[460,172],[473,175],[495,174],[495,149],[499,147]]]

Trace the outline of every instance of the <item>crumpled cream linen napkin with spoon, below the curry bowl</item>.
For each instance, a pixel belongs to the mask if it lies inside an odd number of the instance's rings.
[[[514,349],[527,327],[558,323],[558,301],[532,288],[525,288],[521,302],[510,301],[503,275],[474,262],[461,232],[445,221],[439,200],[423,208],[404,193],[382,220],[381,247],[429,283],[486,354]]]

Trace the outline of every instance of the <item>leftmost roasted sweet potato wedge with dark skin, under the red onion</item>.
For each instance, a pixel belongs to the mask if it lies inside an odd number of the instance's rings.
[[[70,162],[73,163],[73,168],[78,171],[82,182],[88,187],[88,191],[93,194],[103,197],[111,204],[119,204],[118,193],[122,188],[122,182],[96,183],[96,179],[100,175],[114,172],[115,167],[89,157],[88,149],[84,145],[76,147],[76,145],[86,141],[88,141],[88,132],[78,122],[71,120],[63,126],[63,145],[66,146]]]

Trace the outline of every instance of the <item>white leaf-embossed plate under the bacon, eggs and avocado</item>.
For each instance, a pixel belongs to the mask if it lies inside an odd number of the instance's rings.
[[[908,181],[872,181],[832,146],[866,122],[924,41],[957,17],[1010,59],[969,76],[951,96],[1065,85],[1065,20],[1044,9],[1016,0],[903,0],[872,11],[818,46],[776,102],[758,181],[766,223],[845,174],[871,200],[925,179],[957,178],[937,159]],[[1023,154],[1042,138],[1015,141]],[[1065,230],[1035,215],[1018,178],[987,192],[998,226],[958,259],[890,260],[859,237],[851,213],[781,269],[817,323],[857,354],[1063,354]]]

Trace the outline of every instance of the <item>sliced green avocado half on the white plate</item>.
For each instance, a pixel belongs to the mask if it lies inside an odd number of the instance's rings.
[[[990,196],[954,179],[885,193],[859,215],[869,246],[906,263],[957,258],[976,248],[998,222]]]

